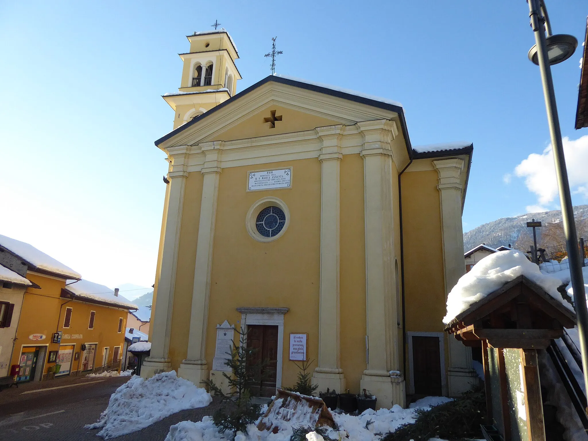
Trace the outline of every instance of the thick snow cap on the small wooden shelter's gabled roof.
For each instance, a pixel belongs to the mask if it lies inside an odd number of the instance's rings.
[[[451,322],[472,303],[482,300],[521,275],[537,283],[554,299],[573,310],[572,305],[557,290],[562,285],[561,280],[543,274],[539,266],[530,262],[523,253],[506,250],[486,256],[457,281],[447,296],[447,315],[443,318],[443,323]]]

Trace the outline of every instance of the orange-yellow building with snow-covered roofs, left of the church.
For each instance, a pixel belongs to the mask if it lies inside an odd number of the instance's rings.
[[[81,275],[28,243],[0,235],[0,265],[31,283],[12,335],[11,365],[18,381],[118,369],[131,302]],[[22,285],[21,285],[22,286]],[[61,334],[61,341],[54,340]],[[7,348],[8,349],[8,348]]]

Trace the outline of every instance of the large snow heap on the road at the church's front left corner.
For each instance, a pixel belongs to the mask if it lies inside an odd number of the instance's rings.
[[[208,406],[211,402],[211,395],[205,389],[178,378],[175,370],[158,373],[148,380],[133,376],[111,395],[98,422],[84,427],[102,429],[97,435],[108,439],[144,429],[180,410]]]

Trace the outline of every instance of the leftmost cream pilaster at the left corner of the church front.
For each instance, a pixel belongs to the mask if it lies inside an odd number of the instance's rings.
[[[165,235],[161,272],[155,299],[155,313],[151,325],[151,355],[143,362],[141,375],[151,377],[165,372],[171,366],[169,359],[169,339],[172,325],[173,291],[175,289],[178,248],[182,220],[183,198],[186,188],[186,153],[178,152],[172,161],[169,178],[169,197],[166,208]]]

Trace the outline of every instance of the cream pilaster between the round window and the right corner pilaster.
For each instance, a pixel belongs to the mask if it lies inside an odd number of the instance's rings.
[[[319,357],[313,383],[319,391],[345,389],[341,369],[339,240],[340,160],[343,125],[316,128],[322,143],[320,196]]]

